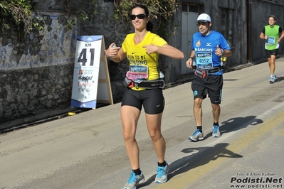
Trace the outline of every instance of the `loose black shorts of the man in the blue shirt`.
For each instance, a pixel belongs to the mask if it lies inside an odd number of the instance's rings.
[[[223,88],[223,75],[206,75],[201,78],[194,75],[191,82],[191,90],[194,93],[194,99],[205,99],[209,95],[212,104],[220,104]]]

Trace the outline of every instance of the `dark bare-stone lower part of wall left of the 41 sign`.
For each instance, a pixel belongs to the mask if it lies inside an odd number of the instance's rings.
[[[72,83],[72,64],[1,71],[0,123],[70,107]]]

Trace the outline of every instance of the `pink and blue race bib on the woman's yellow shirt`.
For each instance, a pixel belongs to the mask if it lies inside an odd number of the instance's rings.
[[[143,65],[130,65],[130,70],[127,71],[126,77],[132,81],[147,80],[148,67]]]

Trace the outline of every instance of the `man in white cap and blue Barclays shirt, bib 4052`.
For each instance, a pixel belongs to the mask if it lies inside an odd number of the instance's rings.
[[[204,139],[202,131],[202,108],[201,104],[206,95],[209,95],[213,112],[212,136],[220,137],[219,117],[221,108],[223,70],[221,69],[221,58],[231,56],[231,48],[221,33],[212,31],[211,17],[201,13],[197,18],[199,32],[192,37],[191,55],[186,61],[187,68],[196,69],[191,82],[191,90],[194,93],[194,117],[196,131],[189,136],[190,141]],[[193,65],[196,63],[196,68]]]

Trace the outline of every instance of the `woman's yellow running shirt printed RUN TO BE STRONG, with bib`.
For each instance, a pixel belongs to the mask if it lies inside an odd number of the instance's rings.
[[[157,45],[162,46],[167,44],[163,38],[148,31],[143,41],[138,45],[134,43],[135,33],[130,33],[126,36],[125,41],[122,43],[122,49],[127,54],[127,59],[130,63],[130,70],[126,76],[130,80],[157,80],[159,73],[157,70],[159,53],[147,54],[144,45]],[[132,87],[133,90],[142,90]]]

